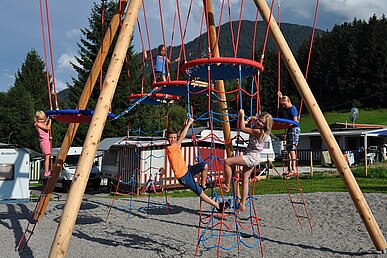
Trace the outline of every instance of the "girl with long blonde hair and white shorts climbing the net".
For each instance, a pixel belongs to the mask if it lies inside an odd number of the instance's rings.
[[[273,117],[263,112],[256,116],[251,116],[247,121],[245,120],[245,111],[239,110],[240,130],[249,134],[249,143],[242,156],[235,156],[227,158],[224,162],[224,184],[223,189],[228,192],[230,190],[232,168],[231,166],[243,166],[241,175],[242,180],[242,197],[239,203],[239,210],[245,211],[247,195],[249,191],[250,175],[254,167],[261,162],[261,152],[265,144],[265,138],[270,135],[273,126]],[[246,125],[251,122],[251,128]]]

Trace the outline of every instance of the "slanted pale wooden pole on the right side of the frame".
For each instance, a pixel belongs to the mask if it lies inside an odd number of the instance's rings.
[[[254,0],[254,3],[265,22],[270,26],[271,35],[281,52],[282,59],[290,75],[292,76],[292,79],[296,84],[299,93],[304,99],[304,102],[310,114],[312,115],[314,122],[316,123],[321,137],[324,139],[325,144],[328,147],[329,153],[335,161],[337,169],[344,181],[345,186],[348,189],[348,192],[356,206],[357,211],[360,214],[360,217],[363,220],[363,223],[368,230],[368,233],[371,236],[372,241],[374,242],[376,249],[378,251],[385,250],[387,248],[386,240],[384,239],[384,236],[371,212],[371,209],[368,207],[364,195],[361,192],[359,185],[357,184],[352,171],[348,166],[348,163],[344,159],[339,145],[337,144],[335,137],[333,136],[332,131],[330,130],[328,123],[325,120],[324,115],[322,114],[321,109],[318,106],[317,101],[305,80],[304,75],[298,67],[298,64],[292,52],[290,51],[285,38],[283,37],[275,19],[270,17],[269,7],[267,6],[265,0]]]

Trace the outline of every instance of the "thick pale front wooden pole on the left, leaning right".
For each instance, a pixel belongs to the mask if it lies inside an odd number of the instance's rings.
[[[116,90],[122,65],[128,51],[133,31],[137,22],[141,0],[131,0],[125,15],[112,59],[106,73],[103,88],[100,93],[94,115],[87,132],[74,181],[68,194],[55,239],[51,246],[49,257],[65,257],[70,245],[71,235],[81,206],[87,180],[97,152],[98,143],[109,113],[109,108]]]

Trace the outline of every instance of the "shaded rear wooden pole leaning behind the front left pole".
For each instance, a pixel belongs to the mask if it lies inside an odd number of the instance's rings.
[[[105,37],[103,38],[103,42],[102,42],[103,45],[99,49],[97,57],[94,60],[94,64],[91,68],[89,77],[87,78],[85,87],[83,88],[82,95],[79,98],[77,109],[85,109],[87,106],[87,103],[89,102],[95,82],[99,77],[99,72],[101,70],[102,64],[105,61],[106,55],[113,42],[114,36],[116,35],[116,32],[121,22],[121,15],[123,13],[123,10],[125,10],[128,0],[121,0],[121,3],[122,3],[121,7],[119,6],[117,8],[116,13],[114,14],[110,22],[110,25],[108,27],[108,30],[105,34]],[[40,195],[38,204],[36,206],[37,208],[34,211],[35,221],[40,221],[44,216],[44,213],[46,212],[47,205],[50,202],[52,192],[54,191],[54,188],[55,188],[55,183],[58,180],[60,171],[62,170],[63,163],[66,160],[67,153],[71,147],[71,144],[73,143],[75,134],[78,130],[78,126],[79,126],[79,123],[69,124],[66,135],[62,142],[62,146],[60,147],[58,157],[52,169],[52,171],[54,172],[54,176],[47,182],[47,185],[45,186],[42,194]]]

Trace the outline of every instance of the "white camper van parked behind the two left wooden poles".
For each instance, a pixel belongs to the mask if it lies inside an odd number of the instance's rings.
[[[52,158],[55,161],[60,148],[52,149]],[[67,193],[70,189],[71,182],[74,179],[75,170],[81,156],[82,147],[71,147],[67,153],[65,162],[63,163],[62,170],[56,182],[56,186],[62,188],[62,191]],[[101,185],[101,172],[98,168],[98,158],[96,157],[93,166],[91,167],[89,181],[87,185],[93,187],[94,190],[98,190]]]

